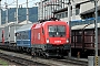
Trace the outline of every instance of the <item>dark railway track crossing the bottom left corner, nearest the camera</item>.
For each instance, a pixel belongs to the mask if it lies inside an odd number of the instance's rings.
[[[42,63],[32,62],[32,61],[29,61],[26,58],[12,56],[12,55],[7,55],[3,53],[0,53],[0,57],[4,58],[7,61],[10,61],[10,62],[17,63],[17,64],[22,65],[22,66],[38,66],[38,65],[39,66],[48,66],[48,65],[42,64]]]

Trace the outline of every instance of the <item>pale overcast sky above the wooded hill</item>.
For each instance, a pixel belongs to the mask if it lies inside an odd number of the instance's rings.
[[[2,1],[1,1],[1,7],[2,7],[2,8],[6,8],[6,4],[4,4],[6,1],[7,1],[7,3],[8,3],[8,8],[16,8],[16,7],[17,7],[17,0],[2,0]],[[36,6],[34,3],[39,2],[39,1],[40,1],[40,0],[28,0],[28,2],[29,2],[28,6],[29,6],[29,8]],[[27,7],[26,2],[27,2],[27,0],[18,0],[18,4],[19,4],[19,6],[22,4],[23,8]]]

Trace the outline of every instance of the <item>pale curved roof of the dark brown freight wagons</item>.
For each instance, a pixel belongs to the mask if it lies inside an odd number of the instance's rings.
[[[98,23],[98,28],[100,28],[100,23]],[[94,23],[93,24],[74,25],[71,28],[71,30],[82,30],[82,29],[94,29]]]

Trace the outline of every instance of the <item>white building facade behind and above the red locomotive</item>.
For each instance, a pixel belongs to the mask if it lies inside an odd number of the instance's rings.
[[[62,21],[68,21],[68,1],[41,0],[38,12],[39,20],[54,16]],[[94,2],[90,2],[90,0],[70,0],[70,2],[71,21],[94,18]],[[100,15],[100,0],[98,0],[98,15]]]

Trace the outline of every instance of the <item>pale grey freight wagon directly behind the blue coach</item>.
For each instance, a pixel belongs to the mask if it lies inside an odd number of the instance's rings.
[[[16,44],[16,30],[20,28],[22,24],[16,24],[11,22],[10,24],[6,25],[3,31],[4,43]]]

